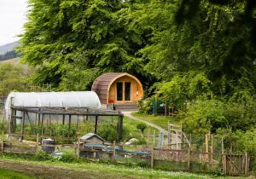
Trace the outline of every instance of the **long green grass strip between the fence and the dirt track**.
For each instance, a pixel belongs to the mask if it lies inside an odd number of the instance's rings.
[[[99,164],[92,162],[83,162],[83,163],[62,163],[62,162],[52,162],[52,161],[28,161],[24,159],[9,159],[4,156],[0,156],[2,161],[17,161],[24,164],[31,165],[47,165],[47,166],[58,166],[65,167],[70,170],[88,170],[95,171],[99,173],[108,173],[116,176],[116,174],[123,174],[127,176],[133,176],[135,178],[146,177],[146,178],[172,178],[172,179],[189,179],[189,178],[213,178],[211,175],[202,175],[202,174],[193,174],[188,172],[172,172],[172,171],[162,171],[162,170],[150,170],[143,168],[128,168],[123,165],[111,165],[111,164]],[[64,171],[64,170],[63,170]],[[12,172],[11,172],[12,173]],[[18,177],[19,178],[19,177]],[[21,177],[22,178],[22,177]],[[26,178],[24,176],[23,178]],[[214,177],[214,178],[229,178],[229,177]],[[240,177],[241,178],[241,177]]]

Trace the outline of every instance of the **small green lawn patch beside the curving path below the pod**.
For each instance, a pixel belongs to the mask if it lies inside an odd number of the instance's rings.
[[[156,124],[165,130],[167,130],[168,121],[172,124],[180,124],[180,120],[177,117],[154,116],[137,112],[132,113],[132,115],[149,123]]]

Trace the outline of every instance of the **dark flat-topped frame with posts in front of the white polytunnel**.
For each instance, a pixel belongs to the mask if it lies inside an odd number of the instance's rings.
[[[122,139],[123,135],[123,118],[124,114],[120,113],[119,111],[111,111],[111,110],[102,110],[102,109],[95,109],[90,107],[18,107],[18,106],[11,106],[11,118],[9,120],[8,132],[9,135],[16,133],[16,121],[17,118],[21,119],[21,129],[20,129],[20,138],[23,140],[25,136],[25,118],[28,117],[29,122],[31,123],[31,119],[29,118],[28,113],[35,113],[36,118],[38,118],[38,124],[41,124],[41,136],[44,136],[44,115],[49,115],[49,124],[51,124],[50,118],[51,115],[62,115],[62,124],[65,124],[66,116],[68,116],[68,137],[70,136],[71,132],[71,123],[72,123],[72,116],[83,116],[86,117],[95,117],[95,126],[94,126],[94,133],[97,133],[97,125],[98,125],[98,117],[119,117],[118,124],[117,124],[117,134],[118,134],[118,142]],[[83,111],[82,111],[83,110]],[[94,111],[94,113],[90,113]],[[22,115],[16,116],[16,113],[20,112]],[[36,119],[37,120],[37,119]],[[78,129],[79,119],[77,119],[76,128]]]

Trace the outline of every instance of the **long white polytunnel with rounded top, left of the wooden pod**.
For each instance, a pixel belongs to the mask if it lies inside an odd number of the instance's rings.
[[[10,107],[88,107],[101,109],[101,101],[94,91],[71,92],[11,92],[5,101],[5,117],[9,120]]]

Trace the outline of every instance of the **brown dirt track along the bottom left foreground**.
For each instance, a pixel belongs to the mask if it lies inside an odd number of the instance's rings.
[[[127,176],[122,173],[109,173],[106,171],[95,170],[80,170],[67,168],[63,166],[55,165],[40,165],[32,164],[29,162],[18,162],[18,161],[9,161],[9,160],[0,160],[0,168],[14,170],[21,173],[24,173],[30,177],[34,178],[57,178],[57,179],[110,179],[110,178],[127,178],[127,179],[137,179],[140,177]]]

